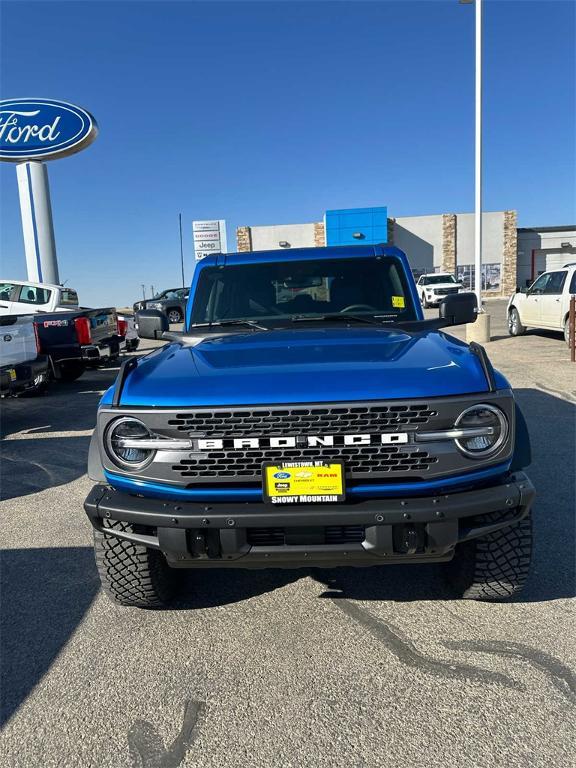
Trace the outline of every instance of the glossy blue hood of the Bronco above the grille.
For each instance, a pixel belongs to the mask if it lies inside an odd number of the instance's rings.
[[[140,358],[123,406],[214,406],[441,397],[485,392],[479,359],[435,331],[297,329],[211,336]],[[109,391],[103,404],[110,402]]]

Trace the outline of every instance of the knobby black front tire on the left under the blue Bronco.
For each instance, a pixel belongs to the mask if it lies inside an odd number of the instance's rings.
[[[104,521],[104,526],[134,532],[129,523]],[[114,603],[137,608],[164,608],[170,603],[175,574],[157,549],[94,531],[94,554],[102,587]]]

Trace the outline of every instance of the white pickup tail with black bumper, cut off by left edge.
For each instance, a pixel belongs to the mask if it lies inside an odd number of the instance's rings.
[[[31,316],[0,317],[0,395],[42,392],[49,379],[49,361],[41,354]]]

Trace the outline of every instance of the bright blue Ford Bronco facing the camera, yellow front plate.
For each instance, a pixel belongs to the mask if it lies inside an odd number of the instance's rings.
[[[501,600],[530,565],[525,421],[484,349],[425,320],[386,246],[214,255],[185,330],[104,394],[85,502],[122,605],[161,607],[179,568],[444,563],[457,594]]]

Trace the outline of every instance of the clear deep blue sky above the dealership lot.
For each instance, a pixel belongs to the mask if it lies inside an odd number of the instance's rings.
[[[90,110],[49,165],[61,279],[85,304],[187,278],[193,219],[320,220],[473,208],[474,7],[416,2],[3,2],[3,98]],[[575,214],[575,4],[485,2],[485,208]],[[2,276],[25,277],[3,163]],[[149,287],[148,287],[149,291]]]

